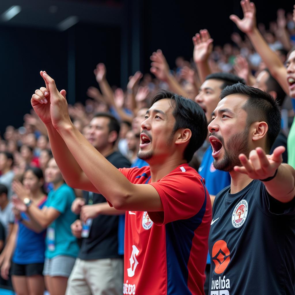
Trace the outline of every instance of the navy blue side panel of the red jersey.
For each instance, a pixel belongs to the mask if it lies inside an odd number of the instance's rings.
[[[201,180],[202,181],[202,180]],[[202,181],[204,186],[204,183]],[[206,211],[207,193],[200,211],[189,219],[177,220],[165,225],[167,257],[167,295],[191,295],[187,286],[188,262],[194,232],[202,223]]]

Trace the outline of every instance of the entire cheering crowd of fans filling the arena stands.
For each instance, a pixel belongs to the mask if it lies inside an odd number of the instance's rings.
[[[241,6],[234,46],[201,30],[191,61],[159,49],[124,90],[99,63],[85,105],[40,72],[0,142],[3,286],[295,294],[295,13],[267,30]]]

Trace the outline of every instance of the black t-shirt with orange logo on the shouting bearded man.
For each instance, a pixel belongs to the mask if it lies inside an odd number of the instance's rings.
[[[295,200],[277,201],[259,180],[229,192],[213,205],[209,294],[295,294]]]

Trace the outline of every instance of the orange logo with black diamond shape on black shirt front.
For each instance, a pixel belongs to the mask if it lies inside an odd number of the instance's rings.
[[[215,263],[215,273],[223,273],[230,263],[230,250],[224,240],[219,240],[212,247],[212,260]]]

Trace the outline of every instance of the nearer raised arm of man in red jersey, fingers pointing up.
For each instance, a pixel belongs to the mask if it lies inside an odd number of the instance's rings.
[[[163,211],[160,196],[153,186],[131,183],[77,130],[70,120],[67,101],[57,90],[55,81],[47,73],[43,73],[43,77],[50,90],[52,125],[66,143],[69,152],[76,159],[78,165],[94,184],[96,191],[99,190],[119,210]],[[58,153],[58,150],[56,153]],[[60,164],[58,163],[58,165]],[[77,187],[75,179],[68,178],[67,170],[64,170],[63,174],[68,179],[70,186]],[[30,206],[29,210],[32,207]]]

